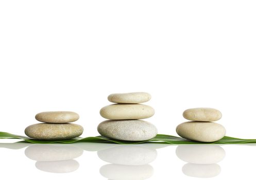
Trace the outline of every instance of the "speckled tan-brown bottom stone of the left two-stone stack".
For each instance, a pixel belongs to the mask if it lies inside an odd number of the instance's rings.
[[[28,137],[42,140],[72,139],[82,134],[83,128],[70,123],[38,123],[25,129]]]

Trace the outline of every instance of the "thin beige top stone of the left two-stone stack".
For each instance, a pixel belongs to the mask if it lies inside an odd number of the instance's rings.
[[[78,120],[79,115],[71,111],[49,111],[38,113],[35,118],[40,122],[67,123]]]

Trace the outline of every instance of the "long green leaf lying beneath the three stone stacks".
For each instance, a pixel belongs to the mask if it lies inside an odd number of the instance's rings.
[[[37,140],[37,139],[31,139],[26,136],[19,136],[14,135],[6,132],[0,132],[0,139],[22,139],[26,142],[31,143],[74,143],[74,142],[102,142],[102,143],[118,143],[118,144],[138,144],[138,143],[166,143],[166,144],[172,144],[172,145],[187,145],[187,144],[237,144],[237,143],[256,143],[256,139],[238,139],[234,137],[228,137],[225,136],[224,138],[215,141],[215,142],[198,142],[198,141],[192,141],[188,139],[184,139],[182,137],[176,137],[176,136],[170,136],[170,135],[164,135],[164,134],[158,134],[156,137],[146,140],[146,141],[123,141],[123,140],[115,140],[110,139],[104,136],[96,136],[96,137],[77,137],[74,139],[65,139],[65,140]]]

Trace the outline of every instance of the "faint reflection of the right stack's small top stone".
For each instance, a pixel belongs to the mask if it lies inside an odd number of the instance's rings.
[[[185,175],[192,177],[214,177],[217,176],[221,171],[221,168],[217,164],[199,165],[187,163],[183,166],[182,172]]]

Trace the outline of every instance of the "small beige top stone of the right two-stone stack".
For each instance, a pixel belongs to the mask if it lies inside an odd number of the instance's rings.
[[[183,112],[183,117],[191,121],[217,121],[222,115],[213,108],[199,107],[188,109]]]

